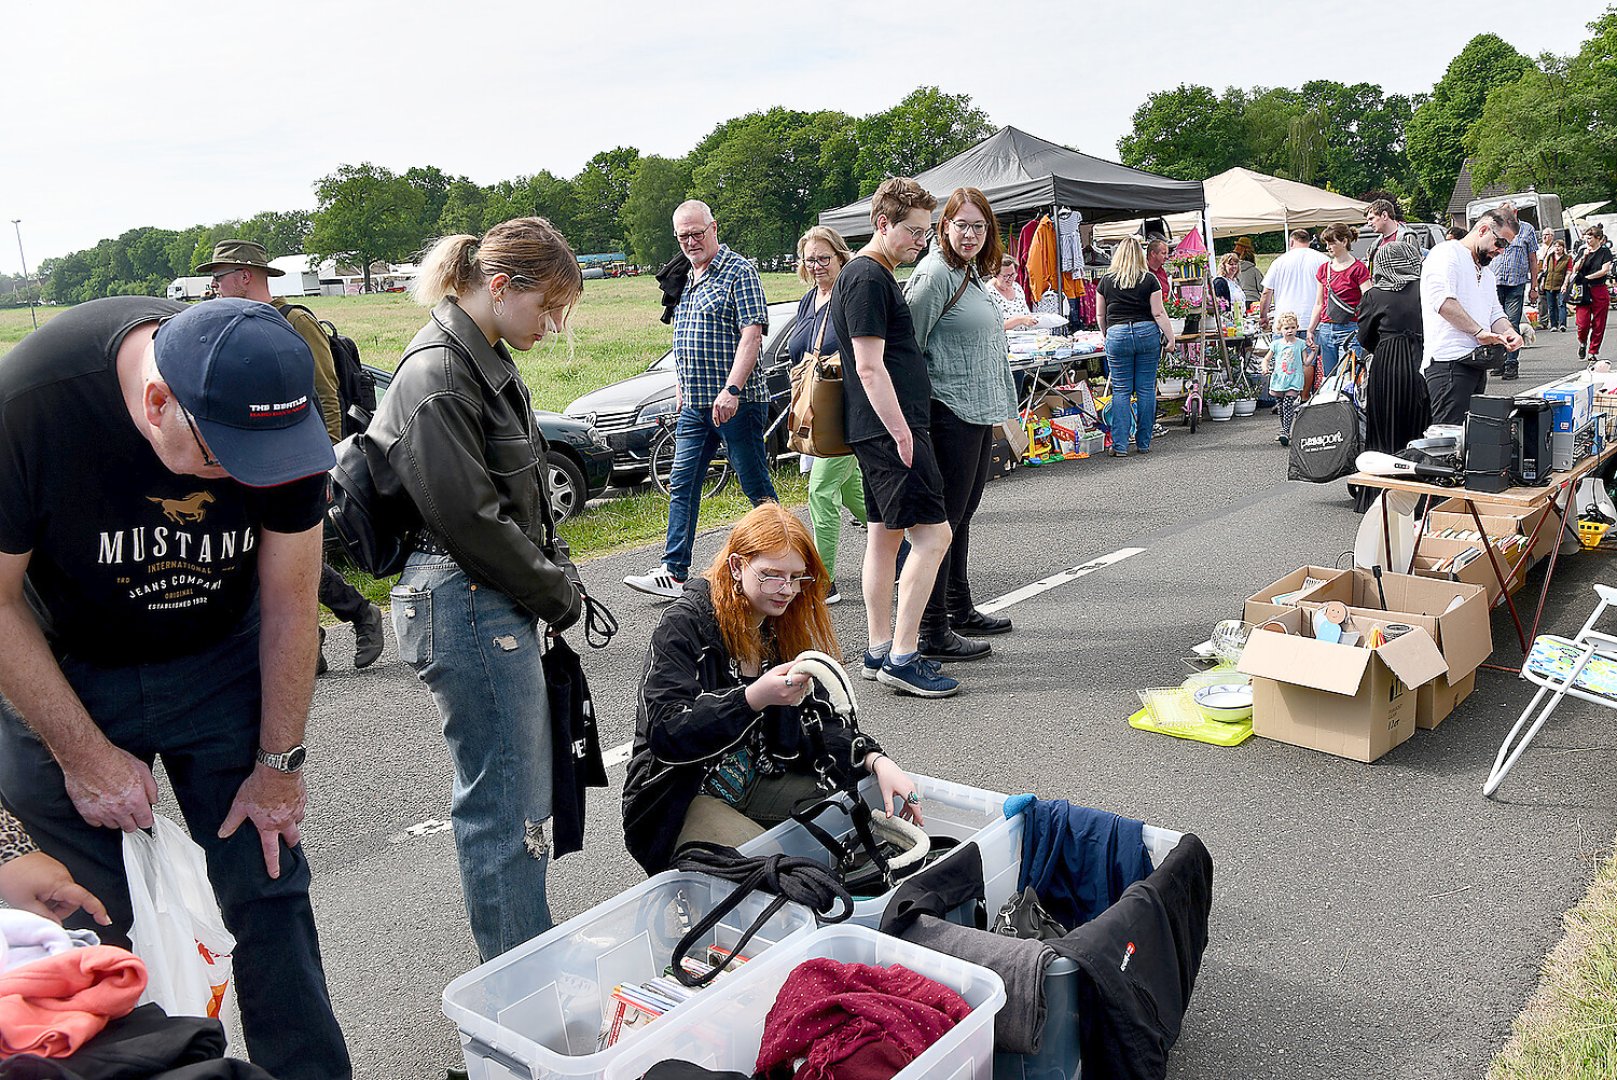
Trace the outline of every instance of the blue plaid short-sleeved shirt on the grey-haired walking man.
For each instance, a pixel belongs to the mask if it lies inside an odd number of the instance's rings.
[[[686,285],[674,309],[674,370],[686,404],[705,409],[718,399],[736,364],[741,331],[752,325],[770,325],[763,281],[757,267],[720,244],[707,273]],[[762,362],[754,365],[741,396],[770,399]]]

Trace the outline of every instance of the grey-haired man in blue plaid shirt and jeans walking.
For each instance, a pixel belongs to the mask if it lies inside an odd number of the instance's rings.
[[[663,563],[624,584],[674,600],[690,572],[702,482],[720,440],[741,490],[752,504],[775,501],[763,453],[770,390],[758,369],[758,346],[770,323],[758,270],[718,243],[718,223],[705,202],[674,210],[674,236],[690,260],[686,291],[674,309],[674,469],[668,479],[668,543]]]

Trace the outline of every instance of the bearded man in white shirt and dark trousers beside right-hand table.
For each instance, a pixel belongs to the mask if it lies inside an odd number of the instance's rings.
[[[1489,210],[1465,239],[1433,247],[1421,267],[1421,372],[1431,391],[1433,424],[1463,424],[1471,394],[1488,388],[1488,365],[1473,357],[1478,346],[1502,344],[1509,352],[1522,348],[1488,267],[1515,234],[1515,213]]]

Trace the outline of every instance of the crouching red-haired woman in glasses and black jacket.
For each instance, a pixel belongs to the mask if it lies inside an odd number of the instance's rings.
[[[820,794],[802,705],[825,692],[792,663],[841,656],[825,590],[808,529],[765,503],[652,631],[623,789],[624,841],[647,873],[692,841],[739,847]],[[825,745],[834,770],[876,778],[881,812],[922,823],[914,781],[878,742],[828,723]]]

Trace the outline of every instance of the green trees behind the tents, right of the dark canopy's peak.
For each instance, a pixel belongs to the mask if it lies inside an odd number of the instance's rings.
[[[1617,8],[1588,31],[1575,55],[1536,61],[1478,34],[1429,94],[1331,79],[1222,94],[1179,86],[1135,110],[1117,152],[1179,179],[1242,165],[1350,196],[1392,192],[1428,220],[1447,207],[1467,158],[1478,186],[1604,199],[1617,191]]]

